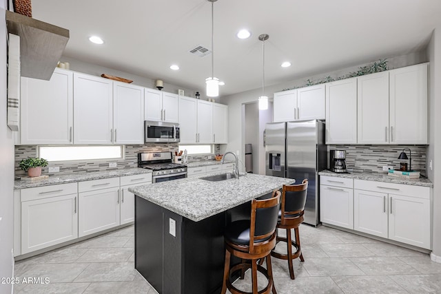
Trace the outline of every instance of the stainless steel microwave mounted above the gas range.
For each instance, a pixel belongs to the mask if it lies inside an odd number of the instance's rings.
[[[144,121],[145,143],[179,143],[179,124],[163,121]]]

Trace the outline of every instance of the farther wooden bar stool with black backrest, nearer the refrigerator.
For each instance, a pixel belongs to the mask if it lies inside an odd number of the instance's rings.
[[[282,207],[279,211],[277,228],[287,230],[287,238],[279,237],[277,234],[276,244],[280,241],[287,243],[287,254],[271,251],[274,258],[288,260],[289,275],[294,280],[294,269],[292,260],[300,258],[304,262],[300,248],[300,235],[298,227],[303,222],[305,214],[305,203],[308,189],[308,180],[305,179],[299,185],[283,185],[282,189]],[[294,229],[295,239],[291,239],[291,229]],[[293,245],[296,251],[293,253],[290,245]]]

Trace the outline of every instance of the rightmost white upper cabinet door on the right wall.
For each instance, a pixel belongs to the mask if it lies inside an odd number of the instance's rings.
[[[427,63],[390,74],[391,143],[427,144]]]

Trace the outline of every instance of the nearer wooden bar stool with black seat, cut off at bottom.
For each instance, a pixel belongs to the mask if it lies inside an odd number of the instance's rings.
[[[265,294],[271,290],[276,294],[273,273],[271,268],[271,250],[276,246],[276,224],[280,209],[280,191],[275,190],[273,197],[264,200],[253,200],[251,204],[251,220],[237,220],[225,229],[225,266],[223,273],[222,294],[227,288],[233,294],[247,293],[240,291],[232,285],[229,276],[241,271],[240,278],[246,269],[252,269],[252,293]],[[240,258],[239,264],[234,264],[230,269],[230,258],[234,255]],[[257,264],[260,259],[266,258],[267,269]],[[249,260],[250,262],[246,262]],[[258,291],[257,271],[265,275],[267,286]]]

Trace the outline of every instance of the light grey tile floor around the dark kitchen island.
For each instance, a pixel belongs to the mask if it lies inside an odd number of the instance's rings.
[[[302,225],[300,239],[296,280],[285,260],[272,259],[279,294],[441,293],[441,264],[427,254],[323,226]],[[14,293],[156,293],[134,269],[133,226],[19,261],[15,276],[50,283],[15,285]],[[247,273],[235,285],[247,290],[250,281]]]

